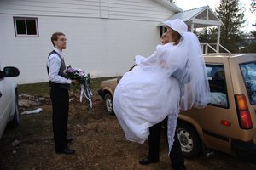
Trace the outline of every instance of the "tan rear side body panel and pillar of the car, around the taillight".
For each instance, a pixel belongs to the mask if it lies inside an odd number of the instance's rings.
[[[242,56],[242,57],[241,57]],[[184,116],[196,120],[193,124],[195,129],[207,147],[215,150],[222,150],[226,153],[233,154],[232,140],[237,139],[243,142],[254,141],[255,144],[255,105],[249,105],[250,115],[253,121],[252,129],[241,129],[238,118],[236,116],[236,94],[245,94],[247,89],[242,81],[241,70],[239,64],[248,61],[255,61],[255,54],[232,54],[225,57],[205,56],[206,64],[224,65],[224,73],[226,79],[228,106],[226,108],[217,107],[215,105],[207,105],[204,109],[191,109],[182,111],[179,120],[187,121]],[[248,100],[248,99],[247,99]],[[247,102],[248,103],[248,102]],[[230,126],[224,126],[221,122],[230,122]]]

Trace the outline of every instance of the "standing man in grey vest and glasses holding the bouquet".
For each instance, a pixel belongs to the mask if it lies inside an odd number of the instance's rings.
[[[61,54],[66,49],[67,39],[62,32],[55,32],[51,37],[54,50],[49,53],[47,71],[49,75],[50,99],[52,101],[52,124],[57,154],[74,154],[67,146],[73,139],[67,137],[67,119],[69,107],[70,84],[78,84],[76,80],[67,79],[63,73],[66,69]]]

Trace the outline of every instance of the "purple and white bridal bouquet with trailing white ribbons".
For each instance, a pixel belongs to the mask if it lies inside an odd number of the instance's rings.
[[[90,89],[90,74],[85,73],[85,71],[77,68],[73,68],[70,65],[67,65],[67,69],[64,70],[65,77],[71,80],[76,80],[80,83],[81,94],[80,102],[82,102],[83,94],[86,99],[90,102],[90,107],[92,107],[92,92]]]

